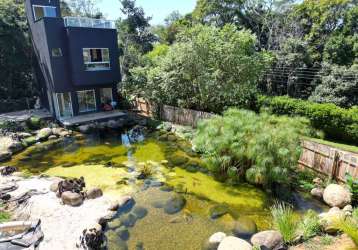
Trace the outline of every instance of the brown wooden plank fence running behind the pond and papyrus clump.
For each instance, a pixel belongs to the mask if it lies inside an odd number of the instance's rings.
[[[144,100],[136,100],[136,108],[140,113],[151,116],[152,108]],[[198,121],[213,116],[211,113],[182,109],[168,105],[159,107],[159,118],[163,121],[196,127]],[[317,142],[305,140],[302,142],[302,154],[299,166],[310,168],[319,174],[330,176],[340,182],[345,182],[346,173],[358,178],[358,154],[340,150]]]

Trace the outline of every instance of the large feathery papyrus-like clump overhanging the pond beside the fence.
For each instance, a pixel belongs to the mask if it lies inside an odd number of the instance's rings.
[[[253,184],[289,183],[301,153],[301,136],[312,133],[308,120],[229,109],[198,125],[193,143],[209,170],[237,173]]]

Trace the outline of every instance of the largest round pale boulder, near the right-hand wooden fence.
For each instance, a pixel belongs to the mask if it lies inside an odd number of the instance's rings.
[[[352,202],[352,194],[340,185],[330,184],[323,192],[323,200],[331,207],[343,208]]]

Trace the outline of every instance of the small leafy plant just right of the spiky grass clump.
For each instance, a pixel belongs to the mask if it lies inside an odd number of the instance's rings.
[[[321,231],[318,214],[313,210],[308,210],[298,227],[303,240],[316,236]]]

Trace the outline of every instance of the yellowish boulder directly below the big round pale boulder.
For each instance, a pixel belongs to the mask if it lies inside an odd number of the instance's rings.
[[[346,218],[346,213],[338,207],[333,207],[327,213],[321,213],[319,218],[323,230],[328,234],[335,234],[339,231],[337,224]]]

